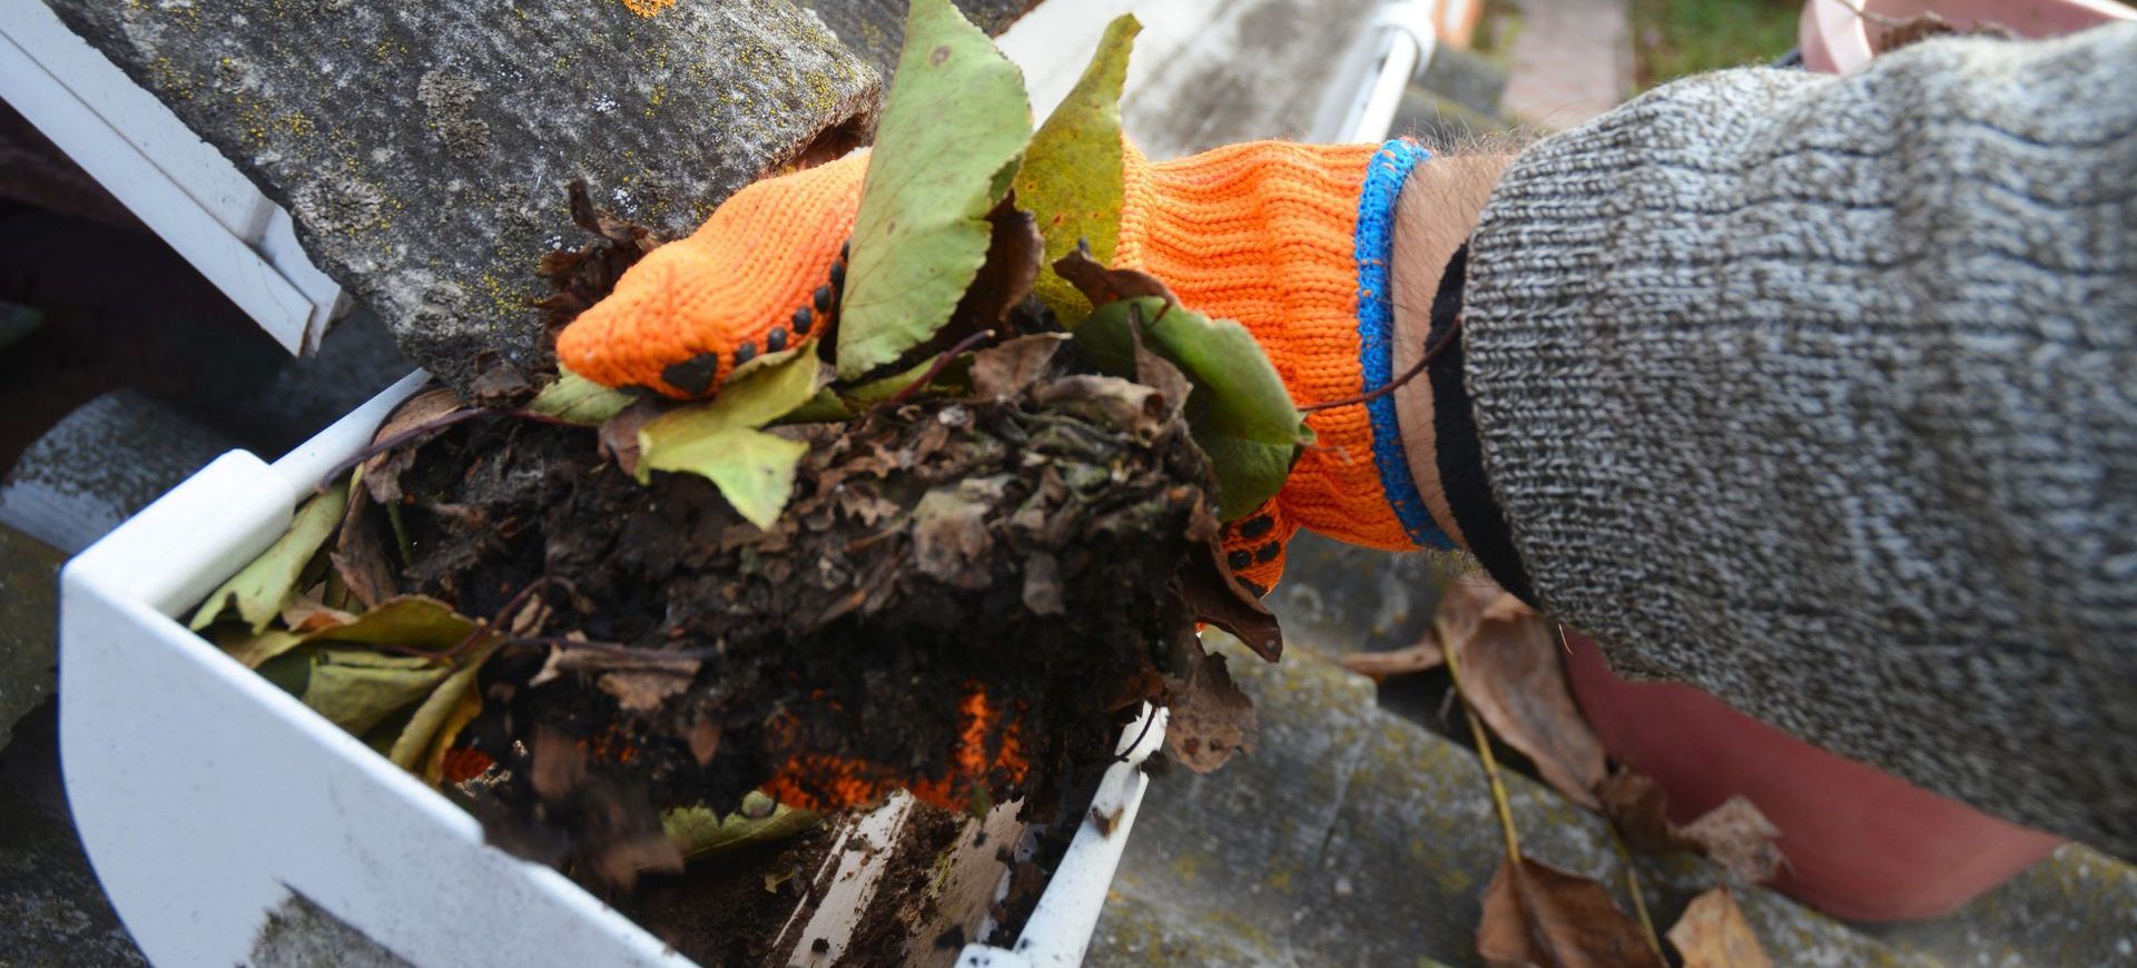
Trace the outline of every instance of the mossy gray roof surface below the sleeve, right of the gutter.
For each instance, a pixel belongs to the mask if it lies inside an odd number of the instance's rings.
[[[1272,596],[1284,660],[1225,650],[1261,746],[1207,776],[1175,765],[1154,780],[1086,964],[1477,964],[1479,895],[1500,857],[1483,767],[1432,727],[1445,694],[1432,675],[1374,688],[1331,662],[1415,641],[1445,564],[1293,541]],[[1524,850],[1631,910],[1607,825],[1524,774],[1507,782]],[[1720,883],[1684,855],[1635,870],[1656,930]],[[2137,964],[2137,870],[2084,846],[1936,921],[1853,925],[1763,889],[1737,900],[1774,964]]]

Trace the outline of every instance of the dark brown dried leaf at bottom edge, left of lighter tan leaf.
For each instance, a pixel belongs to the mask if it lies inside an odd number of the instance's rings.
[[[1663,968],[1603,885],[1524,857],[1483,889],[1477,955],[1489,966]]]

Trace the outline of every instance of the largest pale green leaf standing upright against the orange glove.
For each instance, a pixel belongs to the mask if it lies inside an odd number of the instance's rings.
[[[853,222],[842,378],[898,361],[949,321],[1030,135],[1017,66],[949,0],[912,0]]]

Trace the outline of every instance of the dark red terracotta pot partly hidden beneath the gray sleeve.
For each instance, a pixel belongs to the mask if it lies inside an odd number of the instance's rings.
[[[2062,840],[1795,739],[1690,686],[1626,682],[1566,633],[1573,694],[1603,746],[1669,793],[1669,818],[1742,795],[1780,827],[1772,887],[1853,921],[1949,915]]]

